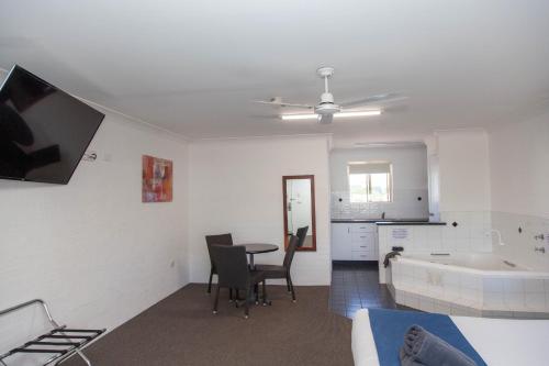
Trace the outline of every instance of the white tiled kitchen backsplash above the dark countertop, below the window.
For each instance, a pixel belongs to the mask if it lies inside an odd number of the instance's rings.
[[[330,206],[333,219],[378,219],[383,212],[386,218],[396,219],[429,217],[426,189],[394,190],[392,202],[376,203],[351,203],[349,191],[333,191]]]

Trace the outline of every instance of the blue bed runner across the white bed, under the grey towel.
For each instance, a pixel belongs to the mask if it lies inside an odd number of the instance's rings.
[[[404,342],[404,334],[414,324],[463,352],[477,365],[486,365],[448,315],[386,309],[368,309],[368,313],[381,366],[400,366],[399,351]]]

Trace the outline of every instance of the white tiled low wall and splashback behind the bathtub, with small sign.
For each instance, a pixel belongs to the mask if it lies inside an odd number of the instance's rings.
[[[380,284],[390,275],[383,259],[393,246],[402,246],[406,254],[492,252],[489,211],[441,212],[440,217],[446,225],[378,226]]]

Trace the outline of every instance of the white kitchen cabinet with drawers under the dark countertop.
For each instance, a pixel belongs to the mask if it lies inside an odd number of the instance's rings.
[[[332,259],[378,260],[374,223],[332,223]]]

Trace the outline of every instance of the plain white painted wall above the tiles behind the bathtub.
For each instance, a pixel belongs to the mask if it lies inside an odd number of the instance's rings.
[[[488,136],[482,131],[438,133],[440,212],[490,210]]]

